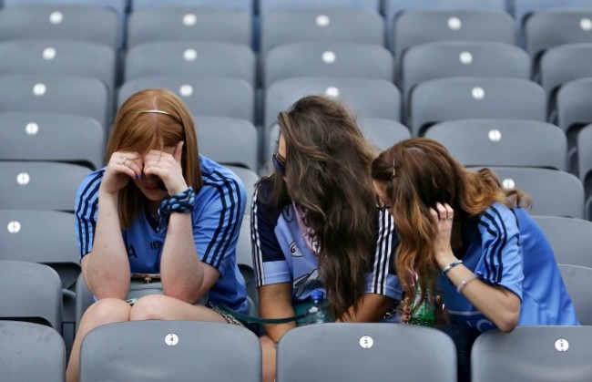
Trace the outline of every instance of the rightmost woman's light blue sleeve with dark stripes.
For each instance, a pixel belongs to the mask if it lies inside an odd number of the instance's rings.
[[[486,283],[504,286],[522,299],[523,259],[515,214],[495,203],[479,219],[482,254],[475,274]]]

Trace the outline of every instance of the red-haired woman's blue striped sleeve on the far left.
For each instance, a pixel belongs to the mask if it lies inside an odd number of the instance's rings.
[[[104,169],[91,172],[80,183],[77,190],[74,212],[76,215],[75,229],[80,258],[93,249],[95,228],[97,227],[98,188],[101,185],[104,173]]]

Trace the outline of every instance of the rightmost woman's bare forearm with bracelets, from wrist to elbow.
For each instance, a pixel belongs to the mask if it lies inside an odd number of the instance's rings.
[[[454,266],[446,275],[457,287],[475,277],[475,274],[463,264]],[[512,331],[517,325],[520,299],[512,292],[476,278],[464,284],[461,293],[501,331]]]

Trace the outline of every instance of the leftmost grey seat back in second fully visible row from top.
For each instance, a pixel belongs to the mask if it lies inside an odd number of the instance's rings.
[[[115,88],[116,56],[112,47],[87,41],[38,38],[0,43],[0,75],[67,74],[98,78]]]

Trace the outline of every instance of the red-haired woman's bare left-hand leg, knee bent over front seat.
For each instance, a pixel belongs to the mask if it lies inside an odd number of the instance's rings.
[[[72,344],[70,360],[66,368],[66,381],[77,382],[80,378],[80,345],[87,333],[100,325],[113,324],[129,320],[131,306],[117,298],[105,298],[90,305],[82,316],[77,336]]]

